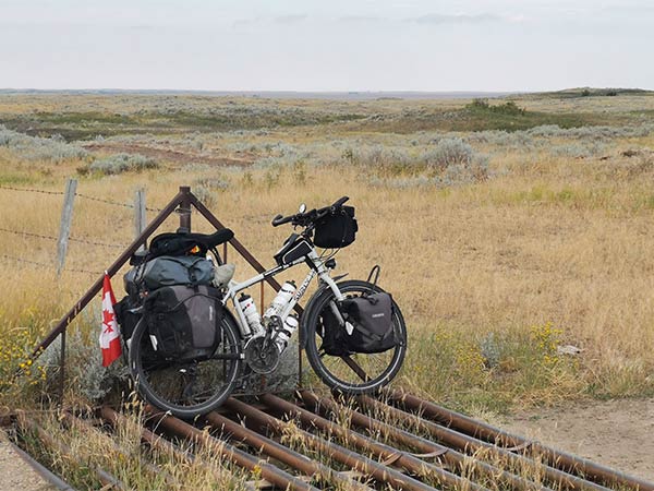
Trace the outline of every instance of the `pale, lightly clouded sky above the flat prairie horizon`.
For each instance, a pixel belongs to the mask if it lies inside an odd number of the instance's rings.
[[[0,0],[0,88],[654,88],[652,0]]]

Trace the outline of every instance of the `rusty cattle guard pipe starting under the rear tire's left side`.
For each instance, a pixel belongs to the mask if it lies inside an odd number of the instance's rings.
[[[317,488],[304,482],[295,476],[292,476],[268,462],[258,459],[243,451],[240,451],[232,445],[215,439],[207,432],[201,431],[197,428],[182,421],[181,419],[174,418],[165,412],[158,411],[152,406],[146,406],[146,412],[152,418],[152,421],[170,431],[174,434],[184,436],[192,442],[205,445],[216,454],[229,459],[237,466],[245,468],[250,471],[261,470],[261,476],[268,482],[280,487],[281,489],[288,489],[291,491],[318,491]]]

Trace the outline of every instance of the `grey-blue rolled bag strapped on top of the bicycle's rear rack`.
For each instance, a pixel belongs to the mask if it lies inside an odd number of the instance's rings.
[[[214,263],[206,258],[195,255],[161,255],[145,263],[137,282],[148,290],[165,286],[210,285],[214,279]]]

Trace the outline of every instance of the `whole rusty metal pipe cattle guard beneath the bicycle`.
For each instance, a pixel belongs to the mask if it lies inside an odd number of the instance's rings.
[[[99,421],[116,429],[141,424],[138,419],[109,407],[100,408],[97,415]],[[256,404],[232,397],[220,411],[193,423],[150,406],[146,406],[145,415],[146,424],[136,428],[147,447],[193,462],[219,480],[226,469],[204,462],[196,453],[206,447],[213,455],[252,472],[253,478],[243,483],[249,491],[654,490],[654,484],[643,479],[511,435],[397,390],[386,391],[380,399],[324,397],[311,391],[299,392],[295,402],[272,394],[261,396]],[[23,431],[33,432],[46,446],[72,458],[70,448],[36,420],[24,414],[16,419]],[[64,412],[60,422],[66,431],[69,426],[95,428],[98,420],[89,419],[88,414],[73,417]],[[182,450],[173,443],[180,439],[193,445]],[[564,458],[553,460],[561,455]],[[150,465],[156,459],[150,463],[147,452],[142,458],[143,468],[156,474],[157,468]],[[584,475],[589,469],[593,472]],[[604,469],[601,476],[598,469]],[[104,469],[92,466],[90,470],[105,486],[125,488]],[[174,487],[172,481],[169,484]]]

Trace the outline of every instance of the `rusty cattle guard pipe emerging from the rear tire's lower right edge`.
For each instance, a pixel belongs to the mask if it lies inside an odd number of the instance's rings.
[[[263,412],[258,409],[254,409],[247,404],[237,400],[232,397],[230,397],[226,402],[226,406],[231,408],[240,417],[243,417],[245,423],[247,423],[249,421],[254,421],[257,424],[274,431],[276,434],[281,435],[283,434],[284,430],[290,428],[289,423],[281,421],[270,415],[267,415],[266,412]],[[351,467],[353,470],[358,470],[367,476],[371,476],[379,482],[386,482],[393,489],[409,491],[429,491],[434,489],[416,479],[413,479],[409,476],[404,476],[402,472],[399,472],[398,470],[388,467],[384,463],[375,462],[368,457],[352,452],[348,448],[337,445],[336,443],[329,442],[306,431],[296,431],[301,432],[302,436],[304,438],[304,443],[314,451],[323,453],[329,456],[330,458],[334,458],[335,460],[338,460],[341,464]],[[397,451],[395,453],[397,453]]]

